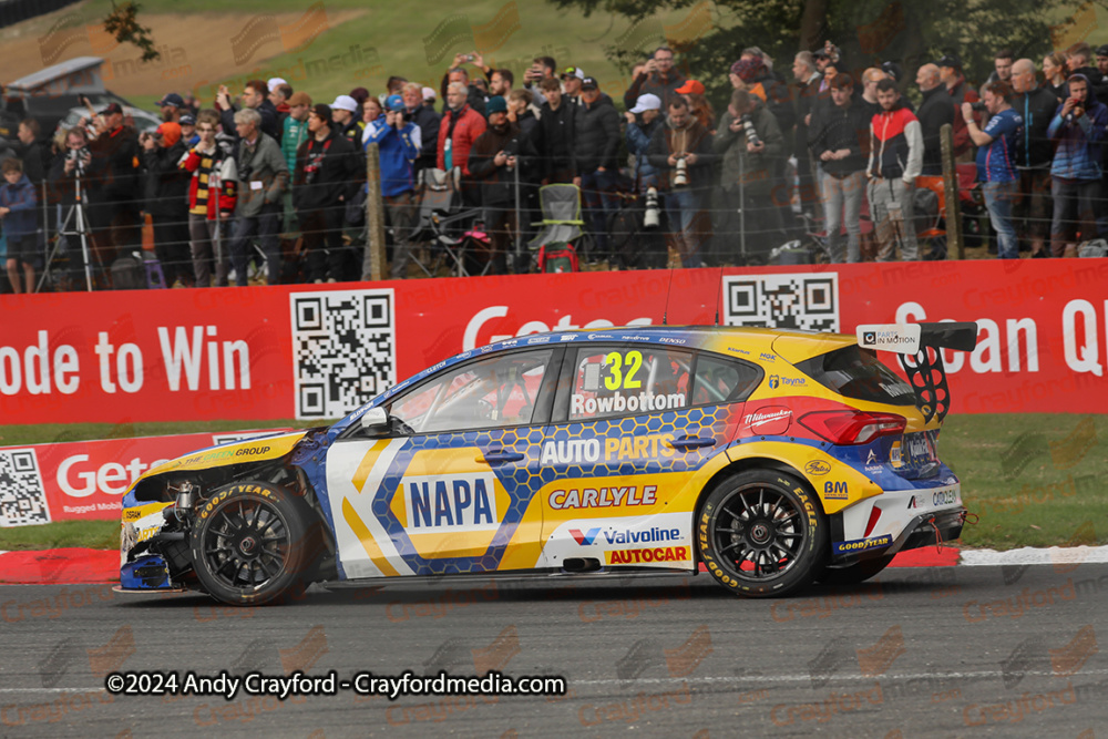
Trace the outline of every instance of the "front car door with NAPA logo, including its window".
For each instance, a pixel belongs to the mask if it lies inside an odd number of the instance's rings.
[[[347,577],[535,565],[542,505],[532,481],[561,353],[453,365],[387,403],[397,432],[335,443],[327,484]]]

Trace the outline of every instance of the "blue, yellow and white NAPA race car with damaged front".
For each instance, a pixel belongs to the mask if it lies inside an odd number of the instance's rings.
[[[258,605],[403,576],[702,569],[752,597],[860,582],[961,535],[942,350],[976,335],[634,327],[465,351],[334,425],[146,472],[123,499],[120,589]]]

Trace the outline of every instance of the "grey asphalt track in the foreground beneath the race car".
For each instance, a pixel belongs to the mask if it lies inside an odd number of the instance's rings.
[[[742,601],[697,577],[311,588],[238,609],[0,587],[0,735],[1080,737],[1108,727],[1108,565],[889,569]],[[561,675],[566,696],[111,696],[115,670]],[[1097,731],[1099,730],[1099,731]]]

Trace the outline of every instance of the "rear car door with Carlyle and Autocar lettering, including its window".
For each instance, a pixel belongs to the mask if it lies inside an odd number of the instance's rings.
[[[544,564],[691,566],[690,510],[675,499],[733,438],[760,370],[665,345],[578,343],[562,373],[541,458]]]

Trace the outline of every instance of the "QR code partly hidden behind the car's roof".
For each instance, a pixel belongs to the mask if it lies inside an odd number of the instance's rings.
[[[727,326],[839,331],[839,273],[725,277],[724,295]]]

